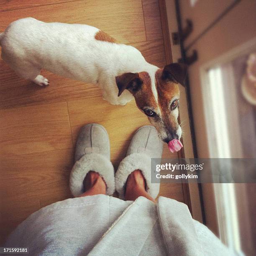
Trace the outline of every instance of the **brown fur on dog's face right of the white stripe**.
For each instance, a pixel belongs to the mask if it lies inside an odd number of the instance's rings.
[[[166,127],[177,128],[177,119],[170,115],[170,100],[177,95],[179,98],[179,86],[175,82],[162,79],[163,69],[156,71],[156,90],[158,92],[158,104]]]

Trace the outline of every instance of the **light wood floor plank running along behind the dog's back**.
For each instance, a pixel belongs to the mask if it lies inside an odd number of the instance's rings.
[[[146,41],[141,1],[75,1],[40,5],[1,13],[0,31],[20,18],[33,17],[45,22],[79,23],[95,26],[121,43]]]

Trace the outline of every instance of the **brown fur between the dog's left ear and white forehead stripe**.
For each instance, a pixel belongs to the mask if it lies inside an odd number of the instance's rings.
[[[148,72],[140,72],[139,77],[143,81],[143,84],[141,85],[141,89],[134,95],[136,105],[141,110],[145,106],[157,108],[157,103],[152,92],[151,78]]]

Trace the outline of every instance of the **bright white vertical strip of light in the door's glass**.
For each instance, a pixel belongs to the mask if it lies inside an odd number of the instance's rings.
[[[231,158],[230,138],[227,124],[224,84],[222,79],[221,66],[208,71],[210,92],[205,102],[207,113],[210,114],[208,131],[211,140],[209,145],[213,147],[210,151],[212,158]],[[229,97],[230,95],[226,95]],[[238,255],[241,253],[241,243],[238,226],[237,205],[234,184],[214,184],[215,202],[218,216],[220,239],[227,246],[232,248]]]

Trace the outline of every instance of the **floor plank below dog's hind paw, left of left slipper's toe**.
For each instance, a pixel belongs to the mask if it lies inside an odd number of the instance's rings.
[[[66,102],[0,111],[0,154],[72,148]]]

